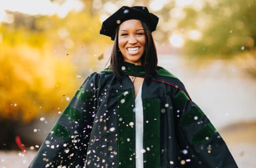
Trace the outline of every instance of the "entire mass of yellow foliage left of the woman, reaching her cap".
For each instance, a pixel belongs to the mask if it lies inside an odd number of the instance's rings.
[[[86,10],[64,19],[22,15],[0,23],[0,118],[29,122],[63,110],[82,83],[76,76],[91,73],[112,42]]]

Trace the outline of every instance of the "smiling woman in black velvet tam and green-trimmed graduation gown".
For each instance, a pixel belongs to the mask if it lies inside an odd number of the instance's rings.
[[[84,81],[31,168],[237,168],[181,81],[157,66],[157,24],[140,6],[102,23],[114,40],[110,66]]]

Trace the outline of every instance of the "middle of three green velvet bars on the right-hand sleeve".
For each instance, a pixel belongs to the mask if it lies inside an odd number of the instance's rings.
[[[204,116],[203,111],[198,106],[196,106],[181,116],[179,126],[189,126],[202,116]]]

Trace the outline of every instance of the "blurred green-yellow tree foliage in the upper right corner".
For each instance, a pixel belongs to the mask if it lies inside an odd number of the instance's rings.
[[[178,27],[189,36],[199,31],[199,39],[187,39],[185,53],[201,57],[229,58],[255,50],[256,3],[254,0],[205,1],[201,11],[187,7]]]

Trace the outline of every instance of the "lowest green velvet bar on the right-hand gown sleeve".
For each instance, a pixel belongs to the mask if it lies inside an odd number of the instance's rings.
[[[203,127],[202,130],[198,131],[192,139],[191,144],[201,144],[206,141],[209,137],[216,134],[217,130],[214,128],[212,123],[208,123],[207,126]]]

